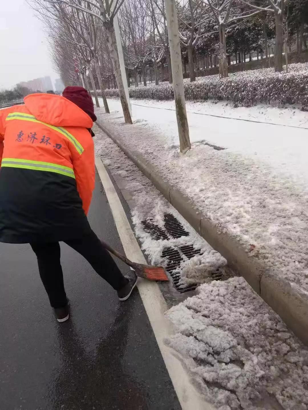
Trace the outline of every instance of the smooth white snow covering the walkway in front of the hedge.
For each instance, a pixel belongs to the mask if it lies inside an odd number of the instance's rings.
[[[162,144],[177,147],[179,137],[174,101],[131,100],[135,121],[143,120],[143,128],[155,128],[162,135]],[[109,100],[110,111],[121,110],[117,100]],[[135,105],[138,104],[138,105]],[[281,109],[266,105],[233,108],[228,103],[187,102],[188,125],[192,143],[204,142],[228,148],[234,153],[261,159],[278,171],[294,175],[308,182],[308,130],[221,118],[230,116],[260,122],[306,126],[308,113],[292,107]],[[102,100],[101,105],[103,106]],[[198,114],[218,115],[205,116]]]

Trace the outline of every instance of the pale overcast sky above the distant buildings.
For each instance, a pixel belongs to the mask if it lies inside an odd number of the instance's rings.
[[[1,2],[0,89],[55,73],[41,22],[25,0]]]

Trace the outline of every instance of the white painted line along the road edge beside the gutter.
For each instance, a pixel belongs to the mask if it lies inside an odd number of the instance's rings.
[[[95,158],[95,165],[99,178],[105,189],[108,203],[113,214],[126,256],[138,263],[147,263],[138,245],[137,239],[129,225],[125,211],[117,195],[115,187],[99,157]],[[165,299],[161,294],[156,282],[138,278],[138,290],[149,317],[157,344],[163,356],[165,366],[175,388],[175,392],[183,410],[215,410],[207,403],[195,386],[191,383],[190,376],[183,368],[182,362],[176,357],[175,351],[165,345],[164,339],[172,335],[173,329],[170,322],[165,318],[167,310]]]

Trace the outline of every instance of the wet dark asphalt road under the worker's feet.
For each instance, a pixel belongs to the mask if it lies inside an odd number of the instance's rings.
[[[89,220],[122,249],[98,176]],[[0,409],[181,409],[138,290],[120,302],[83,257],[65,244],[61,252],[65,323],[53,317],[30,246],[0,244]]]

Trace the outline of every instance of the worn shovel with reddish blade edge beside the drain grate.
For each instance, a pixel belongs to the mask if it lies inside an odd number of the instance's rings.
[[[115,255],[117,258],[122,260],[122,262],[126,263],[126,265],[131,266],[135,271],[137,276],[140,278],[148,279],[148,280],[159,280],[162,282],[168,282],[168,276],[165,273],[165,269],[163,266],[152,266],[152,265],[143,265],[136,262],[131,262],[127,259],[126,256],[122,255],[122,253],[113,249],[110,245],[106,244],[106,242],[101,241],[103,248],[107,249],[108,252]]]

